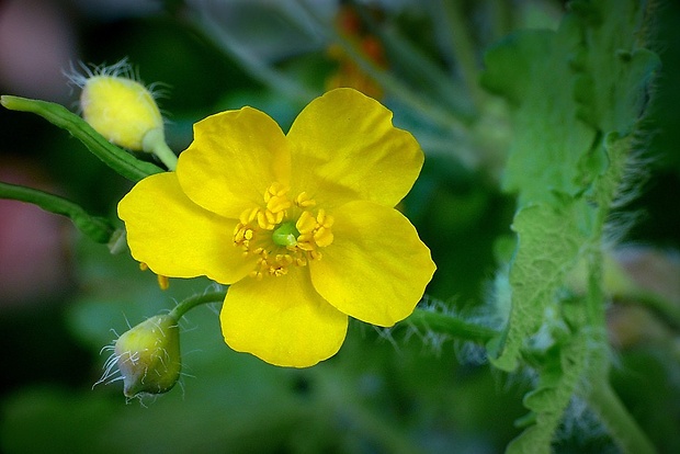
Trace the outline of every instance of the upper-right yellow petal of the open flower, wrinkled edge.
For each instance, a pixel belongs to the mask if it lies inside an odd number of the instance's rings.
[[[356,90],[336,89],[311,101],[287,134],[294,192],[320,206],[369,200],[395,206],[413,185],[423,155],[392,112]]]

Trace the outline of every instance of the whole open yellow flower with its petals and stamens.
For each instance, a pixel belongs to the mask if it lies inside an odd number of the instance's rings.
[[[421,298],[435,266],[394,206],[422,161],[387,109],[337,89],[287,135],[251,107],[199,122],[177,171],[137,183],[118,215],[155,273],[231,284],[229,347],[306,367],[340,349],[348,316],[392,326]]]

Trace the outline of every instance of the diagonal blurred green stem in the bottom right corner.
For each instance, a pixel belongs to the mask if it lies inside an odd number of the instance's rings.
[[[647,435],[631,417],[609,383],[605,379],[598,382],[590,389],[588,401],[621,451],[630,454],[656,453]]]

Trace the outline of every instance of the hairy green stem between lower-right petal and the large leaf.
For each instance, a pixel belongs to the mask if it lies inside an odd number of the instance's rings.
[[[413,310],[413,314],[401,324],[409,324],[418,329],[450,334],[457,339],[477,343],[486,343],[499,334],[495,329],[426,309]]]

